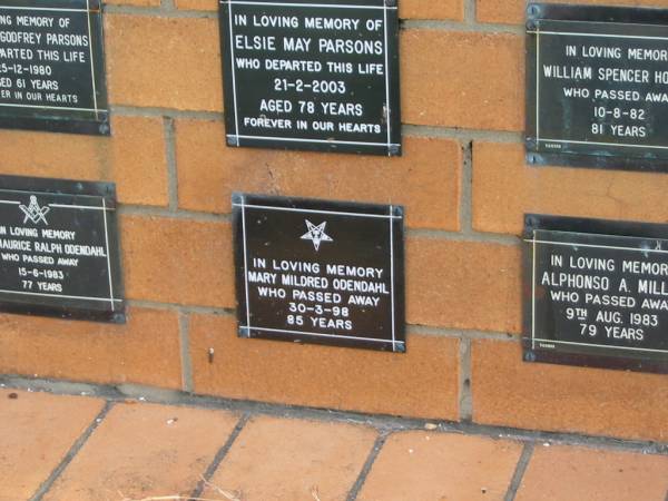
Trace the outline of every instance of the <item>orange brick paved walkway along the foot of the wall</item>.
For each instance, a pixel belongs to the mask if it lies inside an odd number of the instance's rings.
[[[0,501],[667,500],[638,444],[271,409],[2,389]]]

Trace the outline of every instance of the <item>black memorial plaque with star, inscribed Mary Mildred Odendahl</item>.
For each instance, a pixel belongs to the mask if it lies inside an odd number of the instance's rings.
[[[239,335],[405,352],[403,208],[233,196]]]

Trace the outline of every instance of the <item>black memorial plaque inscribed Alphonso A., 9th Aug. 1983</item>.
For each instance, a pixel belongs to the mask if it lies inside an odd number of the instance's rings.
[[[668,225],[528,215],[524,360],[668,372]]]

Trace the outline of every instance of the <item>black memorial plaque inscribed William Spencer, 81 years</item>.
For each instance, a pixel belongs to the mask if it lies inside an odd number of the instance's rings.
[[[668,171],[668,10],[534,3],[527,161]]]

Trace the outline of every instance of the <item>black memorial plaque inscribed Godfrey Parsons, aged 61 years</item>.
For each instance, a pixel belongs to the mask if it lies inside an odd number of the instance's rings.
[[[100,0],[0,0],[0,127],[109,134]]]

